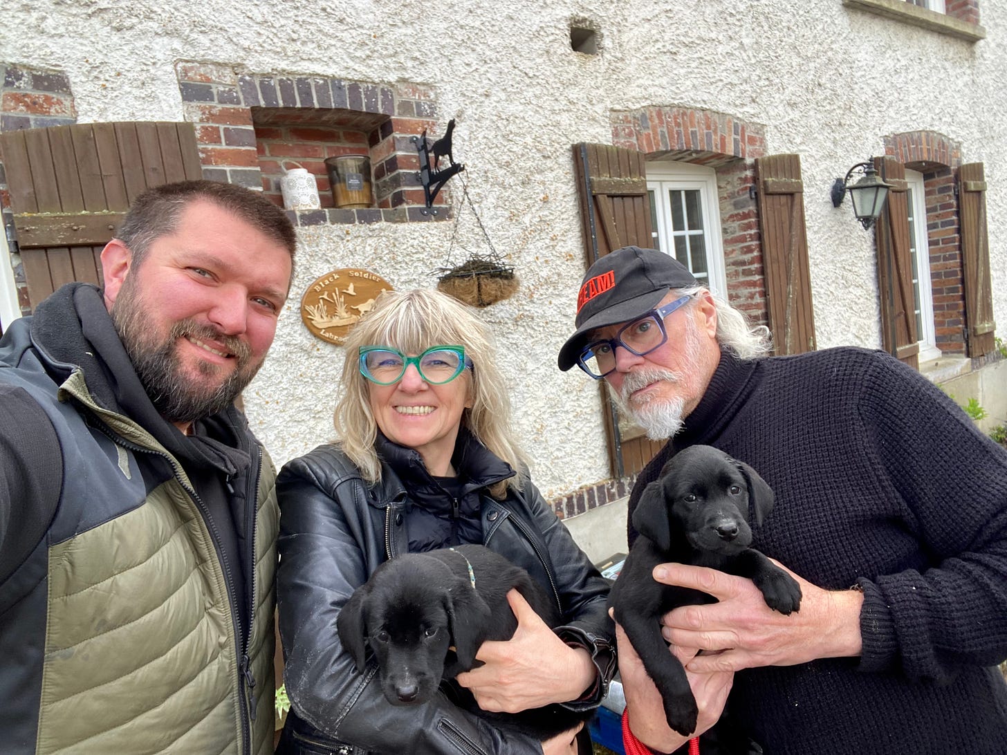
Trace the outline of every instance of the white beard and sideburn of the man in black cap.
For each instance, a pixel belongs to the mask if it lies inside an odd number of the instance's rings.
[[[686,324],[685,342],[686,371],[657,366],[644,367],[626,372],[622,379],[621,389],[617,393],[612,392],[619,409],[643,428],[651,440],[667,440],[673,437],[682,429],[685,422],[686,397],[683,392],[686,390],[688,375],[694,373],[700,363],[699,334],[692,320],[688,320]],[[658,381],[679,386],[678,395],[661,398],[643,394],[630,399],[633,392]]]

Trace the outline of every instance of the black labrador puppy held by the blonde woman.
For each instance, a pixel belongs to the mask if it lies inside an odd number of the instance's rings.
[[[382,693],[392,705],[426,703],[443,681],[459,707],[541,741],[588,720],[593,711],[559,705],[517,714],[483,711],[468,690],[452,682],[481,665],[475,653],[485,640],[514,635],[518,620],[507,601],[512,589],[546,624],[561,623],[559,606],[527,571],[483,546],[469,545],[385,562],[346,601],[336,629],[357,671],[364,671],[370,647]]]

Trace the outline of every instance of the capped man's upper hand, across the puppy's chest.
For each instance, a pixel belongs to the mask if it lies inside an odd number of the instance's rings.
[[[823,590],[781,568],[798,581],[803,596],[801,610],[789,616],[769,608],[751,580],[684,564],[655,567],[658,582],[691,587],[718,600],[676,608],[662,620],[666,640],[704,651],[689,661],[689,670],[737,671],[860,654],[863,594]]]

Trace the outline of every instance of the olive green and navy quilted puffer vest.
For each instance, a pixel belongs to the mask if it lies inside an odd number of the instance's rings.
[[[251,632],[239,634],[228,589],[238,576],[222,565],[181,465],[98,406],[81,369],[56,386],[27,331],[8,333],[14,358],[6,352],[0,382],[23,388],[48,416],[63,483],[45,539],[0,585],[0,749],[271,753],[272,462],[246,429],[252,468],[233,484],[256,500],[255,566]]]

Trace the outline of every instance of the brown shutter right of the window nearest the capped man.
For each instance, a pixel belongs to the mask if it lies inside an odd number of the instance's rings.
[[[815,312],[799,155],[755,160],[762,269],[777,354],[814,351]]]

